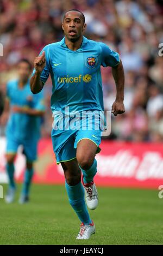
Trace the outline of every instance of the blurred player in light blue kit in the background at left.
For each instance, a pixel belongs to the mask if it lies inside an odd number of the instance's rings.
[[[9,188],[5,201],[12,203],[15,198],[16,185],[14,181],[14,160],[18,146],[23,146],[26,156],[26,171],[24,183],[19,199],[23,204],[29,200],[29,188],[34,174],[33,162],[37,157],[37,142],[40,138],[41,117],[45,111],[43,93],[36,96],[32,94],[29,86],[31,66],[27,59],[18,62],[18,79],[10,80],[7,84],[7,98],[2,118],[9,120],[7,123],[7,173]]]

